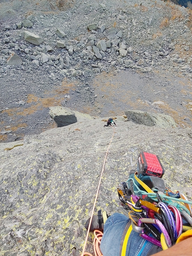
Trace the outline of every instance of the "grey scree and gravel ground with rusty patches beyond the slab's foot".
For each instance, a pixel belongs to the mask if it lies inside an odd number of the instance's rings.
[[[13,0],[0,3],[0,17],[1,142],[55,127],[53,105],[97,117],[146,109],[191,126],[191,10],[163,1]],[[42,44],[27,42],[25,30]],[[101,40],[108,46],[96,54]],[[8,64],[11,53],[22,64]]]

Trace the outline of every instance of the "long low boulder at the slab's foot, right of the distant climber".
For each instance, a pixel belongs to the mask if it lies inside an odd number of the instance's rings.
[[[165,114],[148,113],[140,110],[125,110],[129,121],[146,126],[158,126],[162,128],[176,128],[173,118]]]

